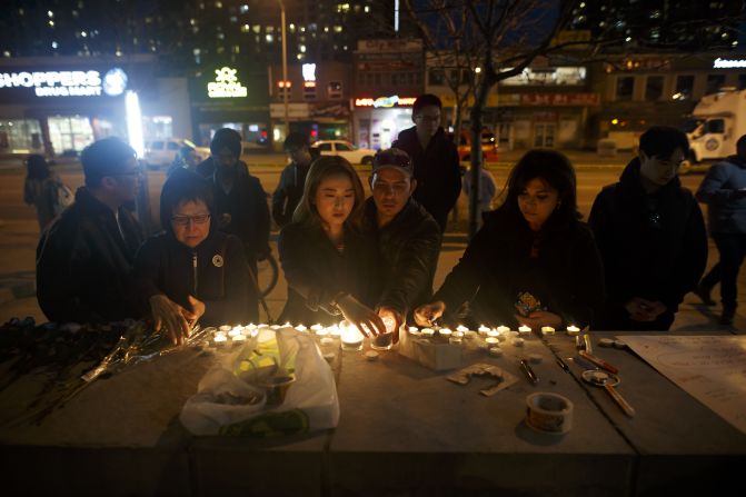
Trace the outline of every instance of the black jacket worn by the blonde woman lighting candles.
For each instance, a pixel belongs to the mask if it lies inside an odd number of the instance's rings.
[[[339,254],[321,228],[292,222],[280,231],[280,262],[288,282],[288,301],[279,318],[294,325],[331,325],[331,301],[340,291],[374,307],[380,292],[375,241],[347,228],[345,252]]]

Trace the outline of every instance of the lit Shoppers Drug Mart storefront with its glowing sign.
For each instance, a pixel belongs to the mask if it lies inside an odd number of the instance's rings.
[[[108,136],[127,138],[125,93],[143,109],[146,140],[191,137],[185,79],[155,78],[157,59],[0,59],[0,155],[79,153]]]

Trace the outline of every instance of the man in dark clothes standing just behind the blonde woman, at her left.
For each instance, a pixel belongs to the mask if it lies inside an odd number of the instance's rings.
[[[272,193],[272,217],[280,228],[292,221],[292,212],[304,195],[306,176],[314,161],[308,137],[304,133],[291,132],[284,147],[290,163],[282,169],[280,182]]]

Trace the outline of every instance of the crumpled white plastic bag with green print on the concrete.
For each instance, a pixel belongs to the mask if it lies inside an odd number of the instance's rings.
[[[275,367],[249,364],[253,350],[277,339]],[[295,375],[279,406],[267,405],[261,378],[276,370]],[[339,423],[339,398],[334,374],[314,338],[294,328],[261,329],[241,349],[226,356],[200,380],[198,391],[181,409],[181,424],[195,435],[266,437],[334,428]]]

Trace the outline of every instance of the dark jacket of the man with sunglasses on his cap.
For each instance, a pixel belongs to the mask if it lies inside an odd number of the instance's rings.
[[[440,255],[440,227],[416,200],[410,199],[391,222],[378,228],[376,202],[366,200],[365,225],[377,240],[382,289],[379,307],[402,315],[430,301]]]

